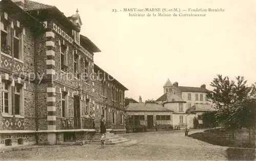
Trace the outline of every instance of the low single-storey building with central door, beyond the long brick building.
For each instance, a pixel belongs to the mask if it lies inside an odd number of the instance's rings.
[[[130,103],[125,108],[129,122],[139,120],[147,129],[170,128],[173,111],[156,103]],[[129,123],[131,125],[131,123]]]

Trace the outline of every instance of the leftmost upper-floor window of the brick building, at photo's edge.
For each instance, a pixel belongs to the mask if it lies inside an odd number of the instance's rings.
[[[10,54],[10,28],[3,24],[4,28],[1,30],[1,50],[4,53]]]

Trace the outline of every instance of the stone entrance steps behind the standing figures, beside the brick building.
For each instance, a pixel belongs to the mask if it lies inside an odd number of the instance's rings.
[[[90,141],[88,141],[88,144],[101,144],[100,138],[102,134],[96,133]],[[121,136],[115,135],[114,133],[106,133],[105,137],[105,145],[116,145],[121,144],[125,142],[129,142],[130,140],[123,138]]]

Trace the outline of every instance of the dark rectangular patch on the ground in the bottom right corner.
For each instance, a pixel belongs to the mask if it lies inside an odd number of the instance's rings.
[[[228,160],[255,160],[255,149],[228,148]]]

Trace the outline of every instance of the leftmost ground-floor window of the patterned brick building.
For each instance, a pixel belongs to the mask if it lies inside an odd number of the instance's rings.
[[[10,84],[2,83],[2,112],[11,113]]]

